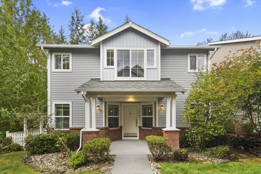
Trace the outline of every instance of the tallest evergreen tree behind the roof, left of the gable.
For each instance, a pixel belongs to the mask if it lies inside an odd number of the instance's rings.
[[[70,44],[86,43],[86,29],[84,29],[83,19],[84,15],[75,7],[69,22]]]

